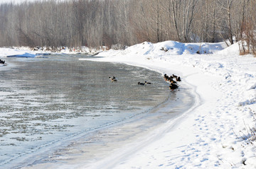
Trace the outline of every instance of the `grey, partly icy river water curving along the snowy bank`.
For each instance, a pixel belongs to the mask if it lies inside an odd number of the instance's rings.
[[[184,92],[169,91],[155,71],[80,58],[90,57],[52,54],[5,59],[8,65],[0,67],[0,168],[55,161],[48,157],[56,159],[56,152],[80,139],[90,147],[88,151],[95,151],[96,142],[110,141],[102,139],[99,131],[143,120],[150,122],[136,128],[148,129],[171,118],[175,107],[182,107],[177,105],[182,98],[188,100]],[[139,81],[151,84],[139,86]],[[161,106],[164,110],[156,111]],[[127,135],[115,139],[127,139],[137,129],[128,127]]]

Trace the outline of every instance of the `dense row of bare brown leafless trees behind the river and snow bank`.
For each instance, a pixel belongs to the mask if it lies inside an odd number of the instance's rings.
[[[0,46],[218,42],[255,30],[255,0],[73,0],[0,5]],[[250,26],[249,26],[250,25]],[[236,37],[236,38],[234,38]]]

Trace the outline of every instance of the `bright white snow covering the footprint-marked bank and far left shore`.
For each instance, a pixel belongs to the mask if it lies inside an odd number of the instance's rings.
[[[2,48],[0,59],[10,53],[24,51]],[[238,44],[144,42],[97,56],[177,74],[180,90],[191,86],[196,102],[149,136],[75,168],[256,168],[256,58],[240,56]]]

